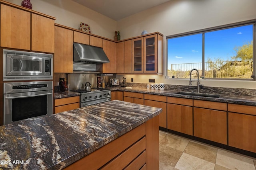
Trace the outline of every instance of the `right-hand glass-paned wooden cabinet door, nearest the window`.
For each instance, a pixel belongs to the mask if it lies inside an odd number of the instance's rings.
[[[154,73],[157,71],[157,44],[156,35],[144,37],[144,73]]]

